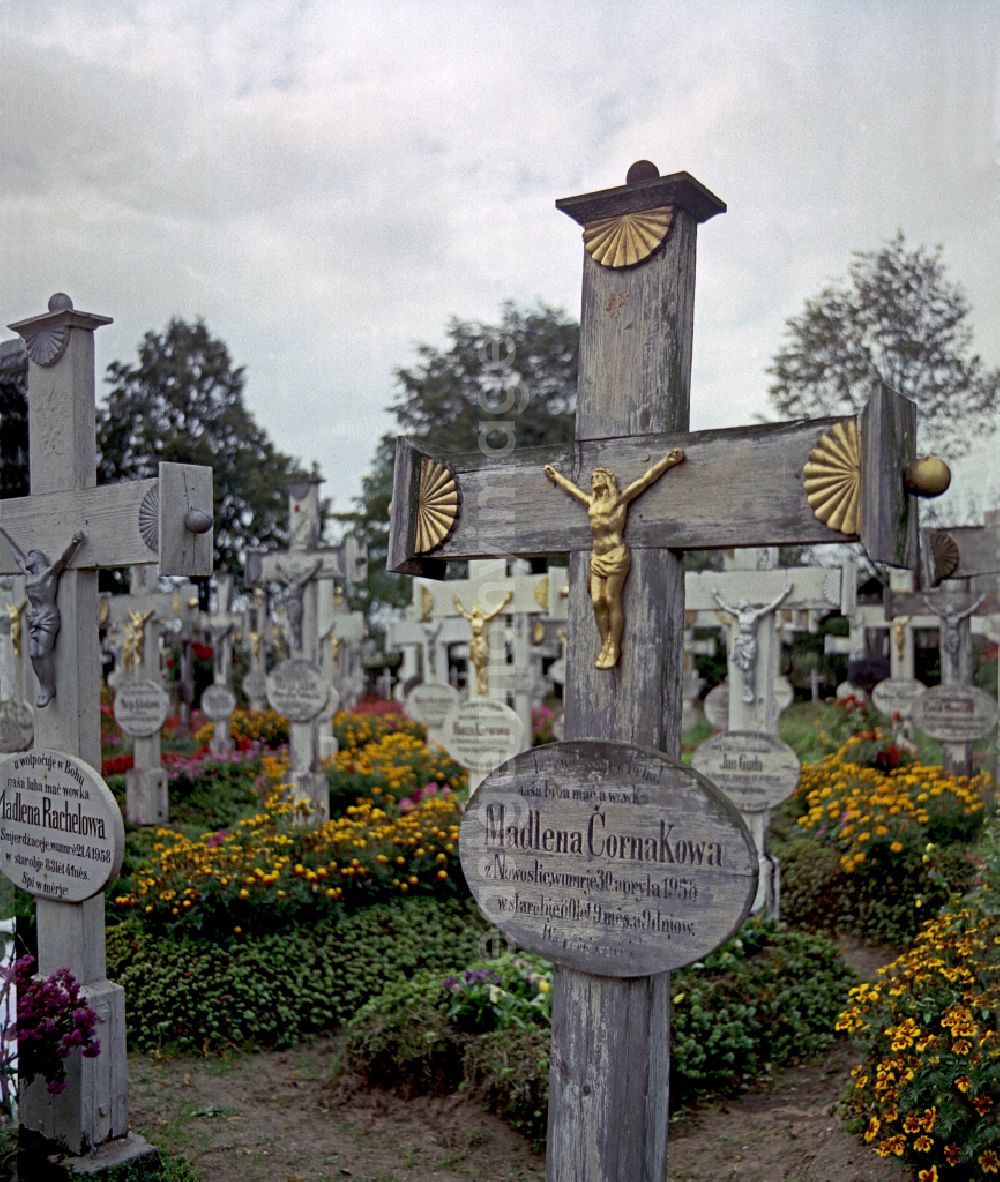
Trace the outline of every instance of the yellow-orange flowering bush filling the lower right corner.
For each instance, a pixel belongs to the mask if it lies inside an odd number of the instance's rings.
[[[837,1026],[866,1044],[845,1102],[850,1128],[921,1182],[1000,1174],[1000,823],[975,888],[931,920]]]

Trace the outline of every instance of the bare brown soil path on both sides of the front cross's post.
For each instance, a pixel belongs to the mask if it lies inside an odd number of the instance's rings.
[[[845,954],[869,975],[882,949]],[[461,1097],[402,1100],[339,1083],[336,1039],[223,1060],[130,1060],[132,1128],[206,1182],[541,1182],[545,1162]],[[735,1100],[671,1121],[670,1182],[902,1182],[835,1109],[858,1061],[838,1043]],[[336,1096],[336,1099],[335,1099]]]

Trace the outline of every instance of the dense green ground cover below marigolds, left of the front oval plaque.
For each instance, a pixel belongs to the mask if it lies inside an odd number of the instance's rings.
[[[132,1051],[285,1047],[336,1030],[394,980],[472,961],[483,931],[469,902],[430,898],[223,943],[128,922],[109,929],[108,974],[129,999]]]

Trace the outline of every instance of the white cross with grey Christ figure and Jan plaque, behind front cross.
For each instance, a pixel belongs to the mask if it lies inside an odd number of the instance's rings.
[[[853,563],[839,567],[775,567],[777,550],[736,551],[725,571],[688,571],[684,606],[714,604],[727,621],[728,720],[703,742],[693,764],[721,787],[746,820],[758,851],[755,911],[778,916],[780,873],[771,856],[772,810],[794,792],[799,760],[778,738],[779,609],[839,611],[855,606]]]

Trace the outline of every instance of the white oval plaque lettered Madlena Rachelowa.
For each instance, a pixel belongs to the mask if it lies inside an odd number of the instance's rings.
[[[45,748],[0,759],[0,870],[39,898],[82,903],[122,869],[111,790],[82,759]]]

